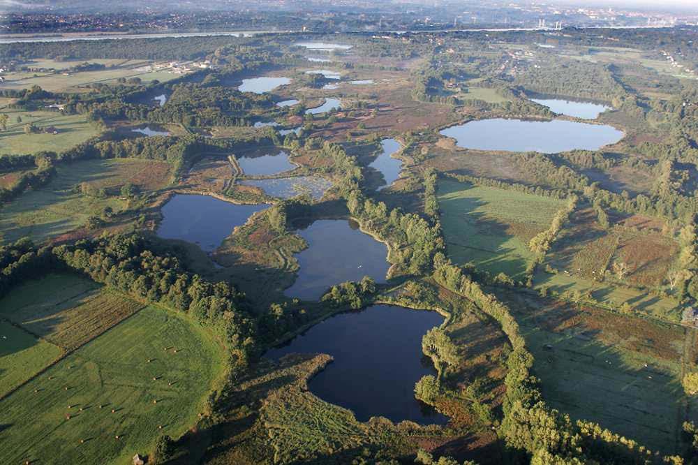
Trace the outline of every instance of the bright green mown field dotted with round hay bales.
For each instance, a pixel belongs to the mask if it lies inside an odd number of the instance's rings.
[[[198,325],[147,307],[0,402],[0,461],[126,464],[193,425],[223,360]]]

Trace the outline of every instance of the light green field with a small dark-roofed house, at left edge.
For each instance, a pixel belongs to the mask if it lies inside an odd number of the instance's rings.
[[[6,131],[0,131],[0,155],[34,154],[41,151],[63,152],[97,135],[85,115],[64,115],[62,112],[31,111],[3,108],[0,113],[10,117]],[[17,122],[21,117],[22,122]],[[57,134],[24,133],[24,126],[54,126]]]

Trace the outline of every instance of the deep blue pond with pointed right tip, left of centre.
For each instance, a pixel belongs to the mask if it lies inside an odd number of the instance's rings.
[[[236,205],[210,195],[177,194],[163,205],[163,221],[157,235],[199,244],[211,252],[223,239],[242,226],[253,213],[267,205]]]

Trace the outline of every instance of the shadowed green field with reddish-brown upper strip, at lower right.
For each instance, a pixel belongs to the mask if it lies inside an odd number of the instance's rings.
[[[547,403],[573,419],[675,453],[686,414],[684,328],[518,297],[517,320]],[[511,303],[511,302],[510,302]]]

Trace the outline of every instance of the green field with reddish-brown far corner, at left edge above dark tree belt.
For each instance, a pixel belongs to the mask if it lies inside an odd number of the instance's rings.
[[[99,216],[104,207],[117,213],[126,207],[126,200],[116,196],[74,193],[73,187],[81,182],[98,189],[117,189],[131,182],[145,191],[165,186],[169,178],[170,165],[163,161],[117,158],[61,165],[49,184],[23,193],[0,210],[2,239],[13,242],[29,236],[40,242],[81,228],[88,216]]]

